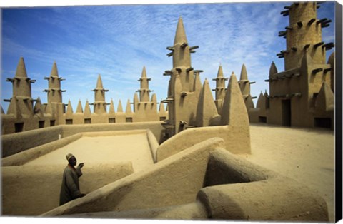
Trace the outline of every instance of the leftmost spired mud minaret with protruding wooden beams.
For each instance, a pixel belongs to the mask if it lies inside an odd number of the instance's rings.
[[[36,82],[36,80],[31,80],[27,77],[26,66],[24,63],[24,58],[19,59],[18,66],[16,67],[16,75],[14,78],[7,78],[6,81],[10,81],[13,85],[13,96],[16,98],[17,102],[11,101],[11,103],[18,103],[19,109],[23,115],[33,116],[33,99],[31,97],[31,83]],[[11,103],[9,108],[11,108]]]

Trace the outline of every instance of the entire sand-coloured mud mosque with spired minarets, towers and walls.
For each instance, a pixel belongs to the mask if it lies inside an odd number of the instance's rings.
[[[284,71],[271,64],[269,93],[261,92],[256,106],[250,95],[254,82],[244,64],[239,79],[234,73],[225,78],[219,66],[215,88],[206,78],[202,83],[202,71],[191,63],[199,46],[189,45],[181,17],[174,44],[166,47],[173,67],[163,74],[169,76],[169,85],[161,102],[156,94],[151,96],[144,67],[138,93],[133,103],[127,101],[125,111],[121,101],[116,110],[113,101],[106,101],[108,90],[99,75],[94,102],[86,101],[83,108],[79,101],[74,112],[70,101],[62,101],[64,79],[55,62],[44,78],[48,102],[42,103],[31,96],[35,81],[20,58],[14,78],[7,78],[13,84],[8,111],[1,107],[3,214],[326,222],[327,204],[321,196],[237,156],[251,153],[249,123],[334,127],[334,54],[325,59],[334,44],[322,41],[322,29],[331,20],[317,19],[319,6],[301,2],[284,7],[281,14],[289,16],[289,25],[279,36],[287,46],[277,54],[284,58]],[[65,161],[46,165],[51,155],[81,138],[127,135],[144,136],[149,159],[141,160],[151,165],[94,162],[81,183],[87,195],[58,206]],[[100,172],[100,166],[106,170]],[[30,178],[39,185],[19,190]],[[274,191],[278,193],[271,195]]]

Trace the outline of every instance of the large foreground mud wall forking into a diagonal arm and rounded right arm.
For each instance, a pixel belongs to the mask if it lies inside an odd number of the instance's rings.
[[[41,216],[329,220],[324,199],[310,188],[223,146],[220,138],[198,143]]]

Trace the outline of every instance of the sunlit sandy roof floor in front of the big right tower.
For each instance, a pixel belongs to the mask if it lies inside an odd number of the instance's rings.
[[[327,202],[334,221],[334,133],[326,129],[251,125],[248,161],[297,180]]]

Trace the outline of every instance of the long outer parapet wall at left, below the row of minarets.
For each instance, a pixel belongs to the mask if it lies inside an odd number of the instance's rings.
[[[161,121],[72,126],[61,125],[1,136],[2,157],[4,158],[14,155],[15,153],[26,151],[29,148],[51,143],[52,141],[59,140],[60,137],[66,138],[69,136],[74,136],[76,133],[96,131],[129,131],[137,129],[149,129],[157,141],[161,142],[163,140],[163,126],[161,126]]]

